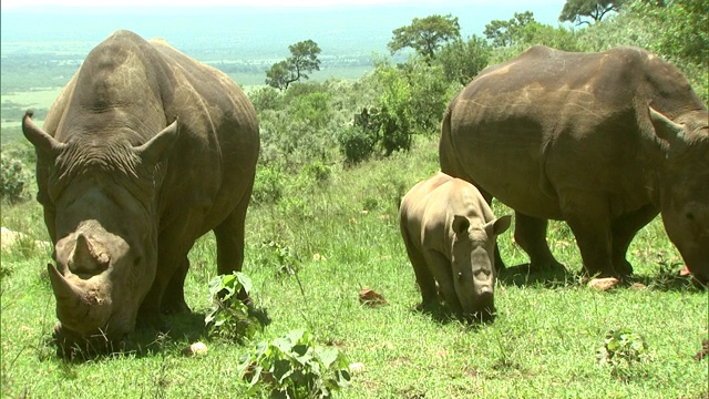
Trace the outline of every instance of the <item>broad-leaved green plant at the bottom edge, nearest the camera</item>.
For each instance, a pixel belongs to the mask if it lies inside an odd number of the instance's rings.
[[[237,370],[248,393],[268,389],[271,398],[330,398],[350,382],[347,356],[316,345],[305,329],[257,344],[242,355]]]

